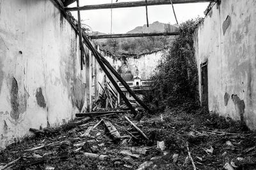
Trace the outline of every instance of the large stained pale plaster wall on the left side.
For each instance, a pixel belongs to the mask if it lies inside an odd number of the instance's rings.
[[[51,1],[0,1],[0,149],[88,105],[78,39]]]

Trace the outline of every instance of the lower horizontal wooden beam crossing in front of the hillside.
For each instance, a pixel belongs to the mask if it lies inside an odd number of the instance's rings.
[[[172,33],[134,33],[134,34],[115,34],[115,35],[92,35],[92,39],[102,39],[102,38],[129,38],[129,37],[142,37],[142,36],[172,36],[179,35],[179,32]]]

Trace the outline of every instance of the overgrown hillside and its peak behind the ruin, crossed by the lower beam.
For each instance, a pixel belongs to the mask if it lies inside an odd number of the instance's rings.
[[[127,33],[163,33],[170,31],[178,31],[177,26],[164,24],[161,22],[153,22],[144,26],[138,26],[128,31]],[[99,35],[95,32],[93,35]],[[141,54],[144,52],[151,52],[164,47],[168,47],[172,42],[174,36],[150,36],[150,37],[136,37],[136,38],[112,38],[99,39],[93,42],[100,45],[100,49],[107,50],[112,54]]]

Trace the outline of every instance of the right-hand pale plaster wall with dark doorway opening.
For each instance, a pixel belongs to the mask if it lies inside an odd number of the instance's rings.
[[[209,111],[256,129],[256,1],[215,4],[195,31],[195,57],[207,61]]]

